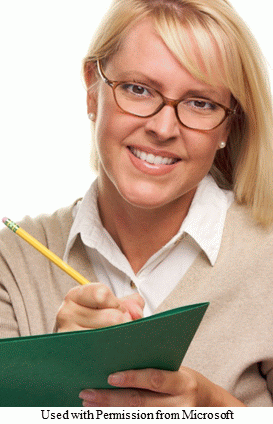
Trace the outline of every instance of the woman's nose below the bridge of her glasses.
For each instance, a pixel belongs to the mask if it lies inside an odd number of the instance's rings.
[[[165,105],[156,115],[147,118],[145,129],[160,141],[167,141],[180,135],[180,125],[174,107]]]

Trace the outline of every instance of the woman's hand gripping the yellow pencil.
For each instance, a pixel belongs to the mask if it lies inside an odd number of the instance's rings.
[[[77,331],[122,324],[142,318],[139,294],[118,299],[104,284],[77,286],[67,293],[56,318],[56,331]]]

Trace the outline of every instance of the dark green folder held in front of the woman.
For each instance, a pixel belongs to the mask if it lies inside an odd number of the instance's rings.
[[[103,329],[0,340],[0,406],[81,406],[109,374],[177,370],[208,307],[199,303]]]

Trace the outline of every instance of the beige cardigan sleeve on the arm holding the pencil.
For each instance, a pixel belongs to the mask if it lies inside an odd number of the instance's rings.
[[[63,256],[72,209],[25,217],[19,223],[57,256]],[[4,228],[0,232],[0,338],[47,334],[76,282],[33,246]]]

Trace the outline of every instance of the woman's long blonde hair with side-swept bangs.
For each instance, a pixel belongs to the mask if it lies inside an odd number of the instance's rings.
[[[273,223],[272,99],[265,60],[244,21],[226,0],[114,0],[83,61],[107,60],[140,20],[152,18],[169,49],[196,78],[227,87],[237,104],[225,149],[211,175],[233,189],[254,219]],[[195,49],[192,48],[194,42]],[[95,152],[93,165],[98,164]]]

